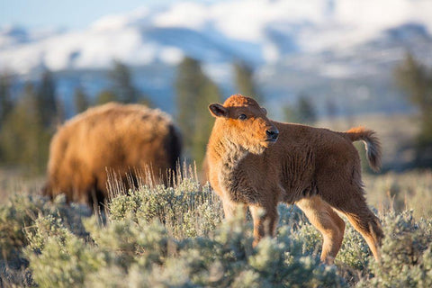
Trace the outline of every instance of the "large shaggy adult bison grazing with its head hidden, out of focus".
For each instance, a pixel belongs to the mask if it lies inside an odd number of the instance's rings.
[[[175,170],[180,136],[163,112],[139,104],[107,103],[88,109],[58,129],[49,147],[51,197],[65,193],[67,201],[102,203],[107,198],[107,172],[127,187],[141,173],[166,183],[166,169]]]

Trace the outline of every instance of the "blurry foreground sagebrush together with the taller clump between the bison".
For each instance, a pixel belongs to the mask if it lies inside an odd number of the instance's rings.
[[[303,254],[288,226],[253,248],[250,222],[219,224],[220,203],[208,187],[179,190],[142,188],[112,199],[106,225],[96,217],[84,221],[88,238],[50,215],[37,219],[26,248],[35,282],[41,287],[345,285],[335,266]]]

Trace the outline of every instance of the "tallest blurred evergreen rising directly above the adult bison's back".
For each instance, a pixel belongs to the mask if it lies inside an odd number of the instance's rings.
[[[112,80],[112,92],[117,95],[121,103],[137,103],[139,101],[139,91],[132,83],[129,67],[119,60],[114,60],[109,76]]]

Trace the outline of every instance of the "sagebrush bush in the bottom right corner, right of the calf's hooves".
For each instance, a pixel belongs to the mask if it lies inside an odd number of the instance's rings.
[[[383,217],[382,260],[370,263],[374,277],[359,287],[431,287],[432,220],[415,220],[412,211]]]

